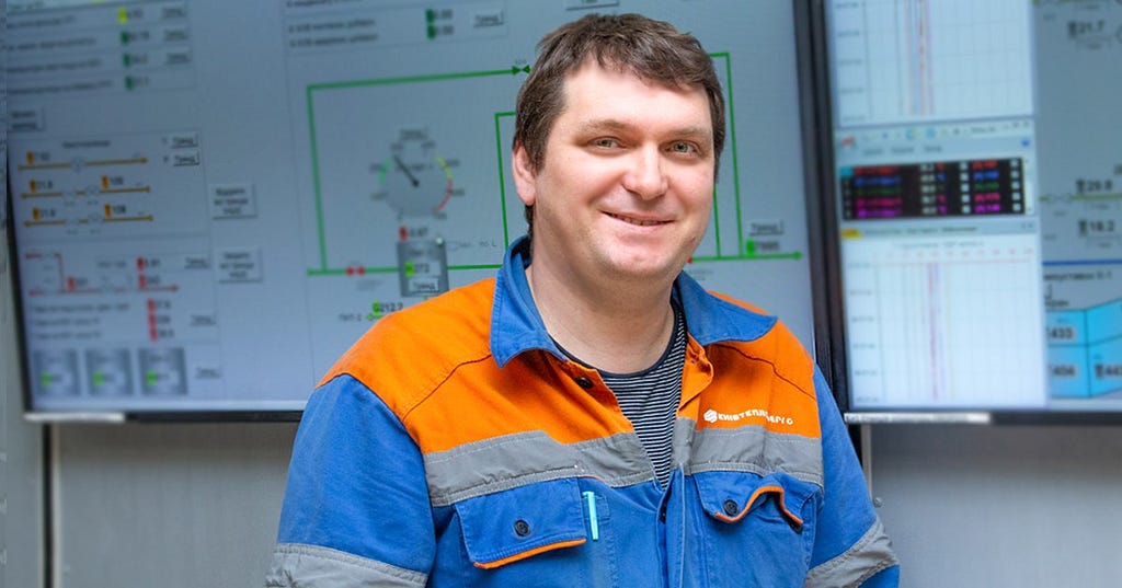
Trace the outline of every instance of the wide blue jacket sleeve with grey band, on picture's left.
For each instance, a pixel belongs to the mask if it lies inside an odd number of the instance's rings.
[[[337,586],[302,578],[335,572],[371,586],[426,581],[435,532],[421,451],[350,376],[323,384],[304,410],[277,542],[269,586]]]

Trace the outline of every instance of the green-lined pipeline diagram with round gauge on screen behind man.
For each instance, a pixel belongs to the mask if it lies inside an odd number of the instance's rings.
[[[710,229],[693,261],[801,259],[782,245],[782,221],[746,231],[732,58],[711,56],[728,139]],[[512,65],[306,86],[315,219],[307,275],[397,274],[402,295],[412,297],[447,290],[449,272],[497,267],[522,231],[506,167],[509,104],[528,72]],[[480,137],[494,137],[494,150],[481,149]]]

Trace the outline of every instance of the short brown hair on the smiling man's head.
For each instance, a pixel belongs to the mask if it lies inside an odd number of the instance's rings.
[[[588,15],[562,25],[537,44],[539,55],[518,90],[514,146],[526,149],[534,171],[545,163],[553,122],[564,109],[565,77],[589,58],[670,86],[699,85],[712,120],[714,174],[725,145],[725,97],[712,58],[692,35],[642,15]],[[532,222],[532,208],[526,208]]]

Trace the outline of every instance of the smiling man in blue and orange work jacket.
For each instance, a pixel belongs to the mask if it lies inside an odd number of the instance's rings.
[[[894,586],[813,361],[682,274],[725,128],[697,40],[565,25],[516,126],[531,237],[324,377],[268,585]]]

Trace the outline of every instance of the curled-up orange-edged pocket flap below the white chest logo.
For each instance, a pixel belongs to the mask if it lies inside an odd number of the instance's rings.
[[[760,509],[769,498],[798,532],[802,531],[803,506],[818,486],[787,474],[758,476],[741,471],[707,471],[695,474],[701,507],[706,514],[724,523],[736,523],[752,511]]]

